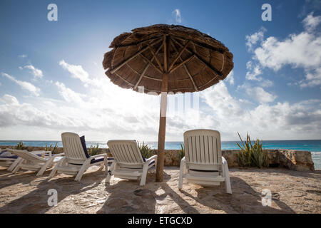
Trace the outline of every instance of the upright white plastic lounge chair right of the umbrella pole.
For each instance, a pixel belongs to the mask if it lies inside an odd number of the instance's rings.
[[[228,162],[222,157],[220,133],[217,130],[188,130],[184,133],[185,157],[180,161],[178,189],[183,178],[198,185],[220,185],[232,194]]]

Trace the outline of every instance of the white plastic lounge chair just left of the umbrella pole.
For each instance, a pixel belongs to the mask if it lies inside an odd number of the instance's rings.
[[[157,155],[144,159],[136,140],[109,140],[107,145],[115,160],[111,164],[106,182],[109,182],[113,175],[122,179],[141,179],[140,185],[145,185],[147,172],[156,165]]]

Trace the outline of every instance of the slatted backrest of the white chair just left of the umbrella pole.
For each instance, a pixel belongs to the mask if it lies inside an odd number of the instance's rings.
[[[107,145],[118,163],[123,165],[144,164],[136,140],[109,140]]]

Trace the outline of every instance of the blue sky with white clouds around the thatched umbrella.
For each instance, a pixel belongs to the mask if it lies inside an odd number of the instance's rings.
[[[48,21],[47,6],[58,6]],[[272,21],[261,6],[272,6]],[[0,140],[157,140],[159,100],[114,86],[103,53],[118,34],[180,24],[222,41],[233,73],[168,117],[166,140],[192,128],[263,140],[321,138],[321,1],[0,2]],[[179,95],[175,95],[179,97]],[[173,98],[172,98],[173,99]],[[197,115],[197,118],[195,116]]]

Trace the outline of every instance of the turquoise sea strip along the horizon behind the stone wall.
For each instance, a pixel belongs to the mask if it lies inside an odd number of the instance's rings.
[[[17,140],[0,140],[0,145],[16,145]],[[58,147],[62,147],[61,141],[22,141],[26,146],[39,146],[55,145],[58,143]],[[238,150],[238,141],[222,141],[222,150]],[[157,148],[157,142],[146,142],[153,149]],[[179,150],[180,143],[183,142],[165,142],[165,149],[167,150]],[[86,142],[87,147],[99,145],[101,148],[106,148],[106,142]],[[312,153],[312,160],[315,163],[315,169],[321,170],[321,140],[270,140],[263,141],[263,147],[265,149],[291,149],[291,150],[307,150]]]

